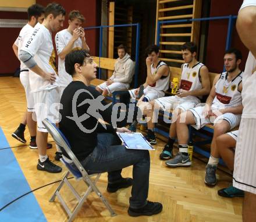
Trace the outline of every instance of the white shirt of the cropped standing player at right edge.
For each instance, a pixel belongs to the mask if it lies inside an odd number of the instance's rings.
[[[256,6],[256,0],[244,0],[241,5],[241,9],[246,8],[247,6]],[[256,119],[256,59],[253,54],[249,52],[246,68],[244,69],[243,75],[243,114],[242,118]]]

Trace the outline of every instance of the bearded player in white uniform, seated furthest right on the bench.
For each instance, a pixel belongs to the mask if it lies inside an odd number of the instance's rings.
[[[239,126],[243,106],[241,105],[241,89],[243,72],[239,69],[241,52],[229,49],[224,55],[226,71],[215,77],[211,92],[205,106],[197,106],[181,113],[177,117],[177,139],[179,153],[166,164],[170,167],[190,166],[187,143],[189,142],[189,127],[197,130],[206,124],[214,123],[214,135],[211,144],[211,157],[206,167],[205,184],[216,184],[216,166],[219,155],[216,152],[216,137],[225,134]]]

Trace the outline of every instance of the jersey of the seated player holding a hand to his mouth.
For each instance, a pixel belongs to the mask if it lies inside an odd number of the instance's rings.
[[[157,67],[154,68],[154,64],[151,64],[151,74],[153,76],[157,74],[157,71],[161,66],[167,66],[167,65],[165,62],[159,61]],[[158,91],[166,91],[169,88],[169,81],[170,81],[170,71],[168,76],[162,76],[154,84],[148,85],[148,87]]]

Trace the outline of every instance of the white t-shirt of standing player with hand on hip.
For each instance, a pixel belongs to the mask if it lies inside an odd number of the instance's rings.
[[[23,42],[21,50],[29,52],[37,65],[47,73],[55,73],[56,82],[51,84],[38,74],[29,70],[29,82],[32,92],[58,87],[58,76],[55,63],[55,51],[52,45],[52,34],[44,25],[37,23],[30,37]]]

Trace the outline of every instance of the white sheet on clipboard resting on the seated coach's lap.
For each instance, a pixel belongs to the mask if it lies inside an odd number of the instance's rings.
[[[145,139],[141,133],[118,133],[118,137],[123,142],[123,145],[127,149],[145,149],[148,151],[154,151],[150,143]]]

